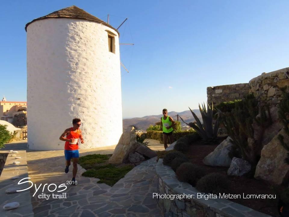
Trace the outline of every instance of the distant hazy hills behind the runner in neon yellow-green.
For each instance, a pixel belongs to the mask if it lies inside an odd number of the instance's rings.
[[[198,118],[201,118],[199,109],[193,109],[193,112],[197,115]],[[187,123],[193,122],[195,120],[190,110],[183,112],[169,112],[168,115],[171,116],[175,121],[177,120],[176,115],[181,116]],[[163,115],[160,114],[160,115],[148,115],[142,118],[124,119],[123,129],[125,130],[130,125],[135,125],[136,127],[138,127],[139,130],[146,130],[150,124],[154,125],[156,122],[160,121],[160,118],[162,116]],[[179,121],[181,122],[181,125],[185,125],[180,118]]]

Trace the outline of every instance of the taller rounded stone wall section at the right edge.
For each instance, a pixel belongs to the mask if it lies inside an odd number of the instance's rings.
[[[276,106],[282,99],[281,88],[289,86],[289,68],[262,73],[249,81],[250,91],[261,105]]]

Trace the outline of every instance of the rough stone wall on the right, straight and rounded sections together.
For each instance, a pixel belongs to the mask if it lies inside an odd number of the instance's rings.
[[[278,105],[282,99],[280,88],[289,86],[289,68],[279,69],[269,73],[262,73],[249,83],[230,84],[207,87],[207,102],[217,105],[221,102],[243,99],[245,95],[253,93],[261,105],[267,103],[270,107]]]

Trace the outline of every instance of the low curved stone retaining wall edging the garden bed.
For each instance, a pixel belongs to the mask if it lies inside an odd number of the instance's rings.
[[[172,149],[174,144],[168,150]],[[186,197],[192,195],[192,199],[180,200],[158,197],[157,203],[165,217],[270,217],[270,215],[257,212],[230,200],[197,198],[198,193],[200,195],[204,195],[204,193],[188,183],[180,182],[172,168],[163,165],[163,159],[159,159],[157,162],[156,171],[158,176],[157,193],[159,195],[186,195]]]

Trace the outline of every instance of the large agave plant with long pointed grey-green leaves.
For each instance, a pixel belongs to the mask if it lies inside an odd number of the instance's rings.
[[[191,108],[189,107],[191,110]],[[213,102],[212,102],[212,108],[209,104],[207,104],[207,109],[205,106],[205,103],[202,104],[202,108],[199,104],[200,113],[202,115],[203,124],[201,123],[200,119],[197,117],[197,115],[191,110],[195,121],[196,122],[190,122],[186,123],[181,117],[182,121],[187,124],[188,126],[192,127],[197,133],[202,137],[204,142],[213,142],[217,138],[217,133],[220,125],[220,115],[219,112],[216,113],[216,123],[213,126]]]

